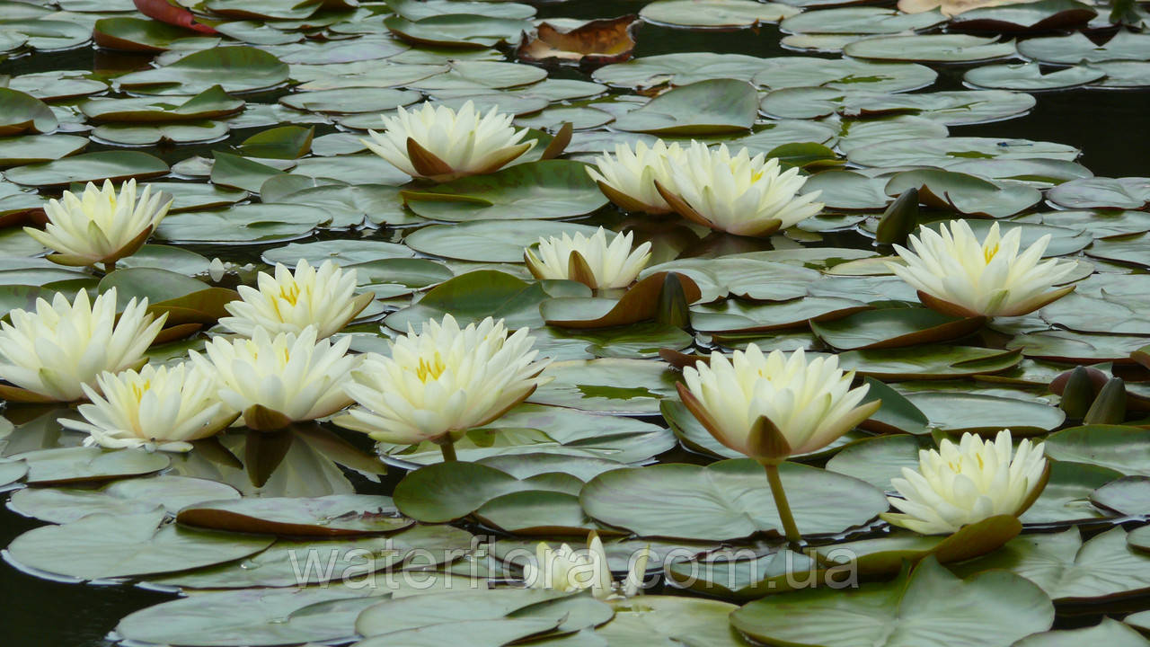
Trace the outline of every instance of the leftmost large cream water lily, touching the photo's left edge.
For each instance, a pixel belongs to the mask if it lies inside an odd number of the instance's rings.
[[[94,302],[84,290],[72,303],[56,292],[51,304],[36,299],[36,312],[16,309],[8,317],[12,324],[0,322],[0,378],[39,396],[29,399],[55,402],[83,398],[83,385],[105,371],[141,366],[168,318],[148,314],[147,299],[133,298],[117,320],[115,288]],[[23,398],[12,391],[3,397]]]

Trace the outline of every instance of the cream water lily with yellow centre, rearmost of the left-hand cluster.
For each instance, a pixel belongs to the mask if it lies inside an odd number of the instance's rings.
[[[261,272],[259,289],[239,286],[241,300],[224,304],[231,317],[220,324],[233,333],[252,336],[255,328],[268,333],[301,333],[315,326],[320,338],[338,333],[371,303],[374,295],[355,292],[355,271],[340,269],[330,260],[316,271],[300,259],[294,274],[276,264],[275,276]]]

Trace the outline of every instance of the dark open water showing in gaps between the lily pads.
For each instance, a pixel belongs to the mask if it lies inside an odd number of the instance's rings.
[[[522,1],[522,0],[521,0]],[[641,2],[604,2],[582,0],[543,5],[539,17],[613,17],[637,12]],[[758,32],[687,31],[644,24],[637,32],[637,56],[674,52],[710,51],[754,56],[783,56],[788,52],[779,46],[780,33],[775,26]],[[806,54],[804,54],[806,55]],[[37,54],[0,62],[0,74],[18,75],[53,69],[133,69],[145,67],[147,56],[95,52],[90,47],[69,52]],[[961,87],[965,67],[936,67],[941,75],[929,91]],[[576,71],[561,70],[552,76],[585,78]],[[278,93],[244,96],[253,102],[274,100]],[[956,137],[1019,137],[1070,144],[1083,151],[1079,160],[1095,174],[1110,177],[1150,176],[1150,91],[1071,90],[1037,93],[1037,106],[1020,119],[977,125],[952,127]],[[228,142],[201,146],[168,146],[139,149],[175,162],[193,154],[223,150],[260,129],[233,130]],[[317,127],[316,135],[335,131]],[[105,149],[93,144],[89,151]],[[192,248],[194,249],[194,248]],[[258,258],[258,248],[241,248],[233,253],[221,253],[213,245],[210,256],[241,260]],[[362,444],[356,434],[342,434]],[[353,437],[358,436],[358,437]],[[675,459],[681,459],[676,456]],[[388,494],[390,485],[401,475],[393,470],[383,484],[353,479],[362,492]],[[389,484],[391,481],[391,484]],[[6,508],[0,510],[0,546],[7,546],[18,534],[40,525]],[[106,639],[116,622],[131,611],[172,599],[174,595],[145,591],[132,586],[91,586],[40,579],[8,565],[0,566],[0,647],[94,647],[112,645]],[[1096,619],[1082,618],[1084,624]],[[1060,625],[1079,624],[1060,621]],[[401,647],[401,646],[397,646]]]

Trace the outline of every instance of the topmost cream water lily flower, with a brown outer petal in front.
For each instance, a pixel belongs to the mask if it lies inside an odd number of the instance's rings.
[[[455,111],[427,101],[396,116],[384,116],[379,134],[360,139],[371,152],[412,177],[446,182],[467,175],[494,173],[531,150],[535,139],[520,143],[527,129],[515,130],[515,115],[498,108],[483,115],[467,101]]]

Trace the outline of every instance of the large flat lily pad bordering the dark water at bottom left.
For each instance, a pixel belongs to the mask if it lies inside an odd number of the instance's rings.
[[[271,538],[191,531],[162,524],[164,512],[92,515],[41,526],[8,546],[14,560],[66,577],[105,579],[182,571],[263,550]]]

